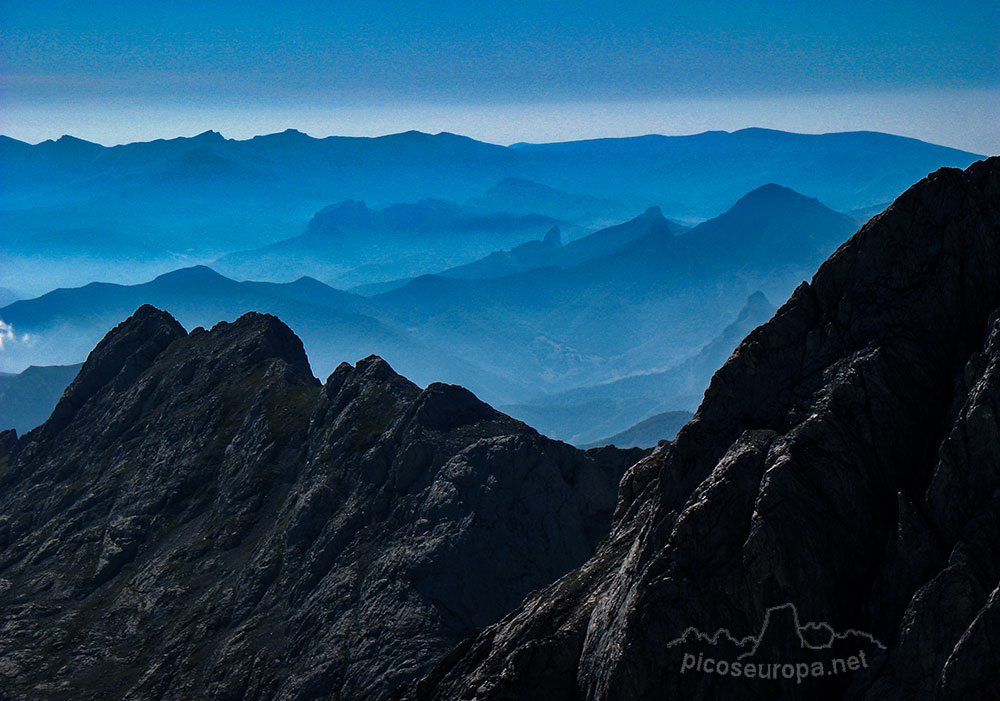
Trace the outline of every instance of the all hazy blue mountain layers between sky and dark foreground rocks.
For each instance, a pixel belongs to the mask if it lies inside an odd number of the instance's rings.
[[[759,129],[511,147],[417,132],[113,148],[0,137],[0,371],[80,362],[144,303],[189,327],[266,311],[321,374],[376,353],[597,440],[693,409],[760,317],[727,328],[748,296],[785,299],[858,217],[973,158]]]

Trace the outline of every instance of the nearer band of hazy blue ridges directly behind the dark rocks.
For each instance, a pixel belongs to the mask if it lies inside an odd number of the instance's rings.
[[[328,214],[342,222],[338,209]],[[381,215],[357,203],[351,210]],[[654,413],[693,409],[712,370],[768,316],[755,293],[784,299],[854,228],[817,200],[768,185],[692,229],[658,208],[568,244],[550,229],[541,241],[369,297],[312,278],[241,283],[206,267],[141,285],[90,284],[0,309],[9,336],[0,369],[79,362],[141,304],[188,327],[256,310],[288,321],[321,376],[377,353],[421,384],[466,385],[545,432],[588,442]],[[608,395],[619,385],[601,385],[572,406],[558,394],[635,375],[648,375],[652,390],[623,380],[625,391]]]

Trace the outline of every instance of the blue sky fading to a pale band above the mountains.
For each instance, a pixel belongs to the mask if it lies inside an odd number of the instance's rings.
[[[995,0],[0,4],[0,131],[33,141],[755,120],[997,152],[998,69]]]

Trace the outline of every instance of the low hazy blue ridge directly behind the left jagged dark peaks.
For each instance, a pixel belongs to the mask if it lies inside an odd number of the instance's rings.
[[[204,266],[140,285],[91,283],[59,289],[0,309],[0,320],[13,334],[0,353],[0,370],[82,360],[117,321],[147,303],[170,311],[188,328],[231,321],[247,311],[280,316],[301,336],[315,371],[323,375],[343,361],[377,352],[391,358],[394,366],[409,368],[424,383],[446,379],[476,384],[497,398],[525,391],[433,341],[373,318],[362,297],[310,278],[286,284],[241,283]],[[25,335],[30,343],[21,342]]]

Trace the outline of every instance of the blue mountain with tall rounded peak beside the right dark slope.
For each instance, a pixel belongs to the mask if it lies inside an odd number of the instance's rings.
[[[595,234],[607,249],[573,265],[479,279],[451,271],[369,301],[380,319],[498,374],[536,378],[540,393],[557,392],[682,362],[752,293],[785,299],[854,230],[852,219],[813,198],[764,186],[679,233],[659,211],[647,211],[617,236],[611,229]],[[504,263],[487,262],[497,263],[494,272]]]

